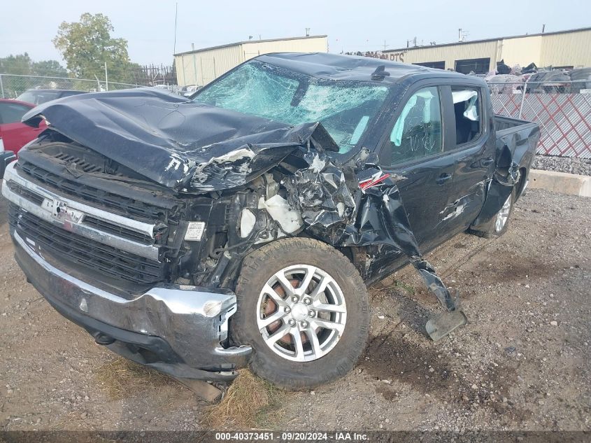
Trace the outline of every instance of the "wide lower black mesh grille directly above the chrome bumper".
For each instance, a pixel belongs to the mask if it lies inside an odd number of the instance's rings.
[[[148,260],[62,230],[15,204],[10,204],[8,221],[20,237],[35,241],[42,250],[60,260],[82,265],[109,278],[138,284],[148,285],[164,279],[163,262]]]

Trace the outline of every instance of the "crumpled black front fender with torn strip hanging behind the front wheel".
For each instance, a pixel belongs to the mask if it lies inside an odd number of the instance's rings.
[[[458,309],[457,300],[450,295],[434,267],[422,257],[400,191],[392,178],[376,166],[359,170],[362,162],[358,162],[355,185],[351,185],[345,171],[353,173],[353,169],[347,165],[336,167],[322,153],[314,154],[314,158],[316,156],[325,162],[322,171],[315,171],[311,166],[297,171],[285,183],[290,195],[297,196],[297,199],[292,197],[292,204],[303,214],[307,230],[333,246],[387,244],[399,249],[441,305],[448,311]],[[311,157],[307,158],[308,164],[312,164]],[[366,189],[359,187],[359,180],[380,174],[383,175],[376,185]],[[340,210],[341,205],[345,205],[345,211]]]

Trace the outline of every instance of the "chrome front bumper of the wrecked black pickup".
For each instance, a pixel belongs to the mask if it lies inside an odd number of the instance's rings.
[[[39,293],[112,351],[173,377],[212,381],[233,379],[248,363],[250,346],[220,345],[236,311],[231,291],[162,286],[127,300],[64,272],[34,241],[11,235],[18,265]]]

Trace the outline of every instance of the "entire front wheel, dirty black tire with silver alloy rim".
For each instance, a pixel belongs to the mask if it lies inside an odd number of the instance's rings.
[[[278,275],[285,276],[283,285]],[[307,288],[302,288],[304,279],[310,281]],[[326,289],[318,289],[311,302],[321,281]],[[297,303],[286,292],[287,283],[292,286],[287,291],[299,294],[294,295]],[[353,369],[365,347],[370,316],[366,286],[350,260],[320,241],[280,239],[248,255],[236,284],[236,299],[232,336],[252,346],[252,371],[280,388],[308,389],[339,379]],[[283,317],[264,325],[265,319],[278,316]],[[319,323],[341,330],[322,328]]]

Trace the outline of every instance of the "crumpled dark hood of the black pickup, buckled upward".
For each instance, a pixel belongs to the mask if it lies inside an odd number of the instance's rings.
[[[306,143],[339,149],[318,122],[290,126],[157,89],[49,101],[22,121],[36,126],[41,115],[69,139],[175,190],[243,185]]]

